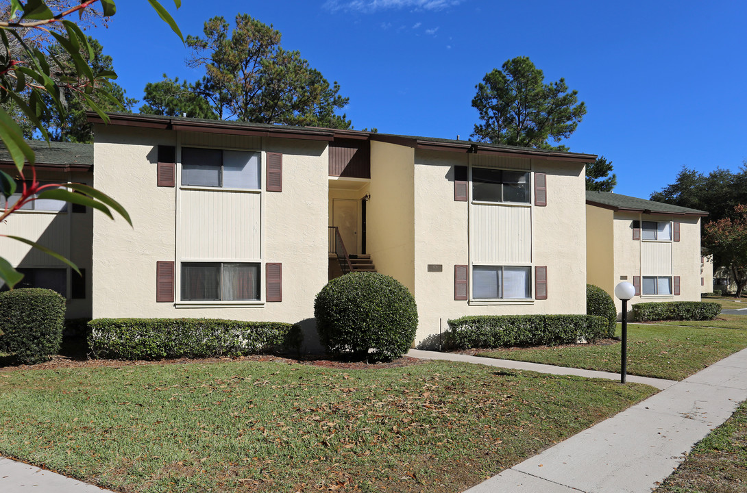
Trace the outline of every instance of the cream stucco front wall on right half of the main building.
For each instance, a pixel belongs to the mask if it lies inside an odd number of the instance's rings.
[[[439,328],[446,330],[448,319],[463,315],[586,313],[584,168],[539,160],[532,168],[548,173],[548,206],[532,207],[533,266],[548,266],[548,299],[454,301],[454,266],[470,263],[470,239],[468,202],[453,200],[453,166],[467,164],[466,154],[415,152],[416,343],[437,343]],[[580,237],[574,234],[578,231]],[[428,272],[429,264],[441,265],[442,271]],[[534,271],[532,279],[534,296]]]

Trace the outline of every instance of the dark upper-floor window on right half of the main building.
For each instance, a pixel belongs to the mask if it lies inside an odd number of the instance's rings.
[[[472,200],[528,204],[529,172],[472,168]]]

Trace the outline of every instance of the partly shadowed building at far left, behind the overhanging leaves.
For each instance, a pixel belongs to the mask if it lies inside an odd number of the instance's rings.
[[[93,145],[68,142],[29,141],[36,153],[36,172],[41,182],[93,184]],[[0,151],[0,169],[18,179],[18,170],[5,148]],[[31,178],[31,169],[24,169]],[[9,203],[20,197],[20,190]],[[6,203],[0,194],[0,208]],[[55,289],[67,300],[67,318],[91,316],[91,245],[93,213],[88,207],[56,200],[37,200],[7,217],[0,225],[4,235],[21,236],[72,260],[83,277],[66,264],[25,243],[0,237],[0,257],[24,274],[17,287]],[[0,284],[2,282],[0,281]]]

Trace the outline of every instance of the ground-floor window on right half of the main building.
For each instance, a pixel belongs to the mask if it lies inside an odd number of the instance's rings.
[[[531,298],[532,280],[529,267],[474,266],[472,268],[472,298]]]

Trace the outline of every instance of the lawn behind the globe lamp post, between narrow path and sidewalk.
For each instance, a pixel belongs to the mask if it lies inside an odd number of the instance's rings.
[[[747,318],[743,320],[740,328],[745,329]],[[620,327],[617,333],[620,334]],[[666,324],[628,324],[627,373],[642,377],[683,380],[719,359],[744,348],[747,348],[747,330],[675,327]],[[614,373],[620,371],[619,342],[610,345],[494,349],[478,353],[477,356]]]

